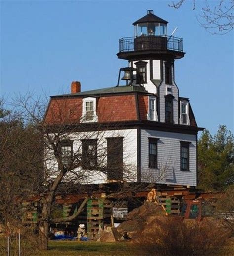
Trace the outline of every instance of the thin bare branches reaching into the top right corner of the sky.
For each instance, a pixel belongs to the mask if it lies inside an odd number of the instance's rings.
[[[170,7],[179,9],[186,0],[173,1]],[[193,10],[197,8],[196,0],[192,1]],[[234,28],[234,0],[204,0],[199,14],[199,23],[211,34],[227,34]]]

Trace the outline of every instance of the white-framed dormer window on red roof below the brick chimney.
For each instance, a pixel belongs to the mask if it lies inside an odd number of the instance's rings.
[[[83,99],[82,122],[97,122],[96,98],[87,97]]]

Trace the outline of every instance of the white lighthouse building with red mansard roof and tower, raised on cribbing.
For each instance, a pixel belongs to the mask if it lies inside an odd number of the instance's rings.
[[[70,94],[51,97],[44,122],[66,126],[62,154],[66,161],[79,152],[76,171],[89,170],[84,183],[197,185],[197,133],[203,128],[189,99],[179,95],[175,60],[185,55],[183,41],[167,35],[167,23],[150,10],[133,23],[134,37],[119,40],[117,56],[128,64],[117,86],[82,91],[74,81]]]

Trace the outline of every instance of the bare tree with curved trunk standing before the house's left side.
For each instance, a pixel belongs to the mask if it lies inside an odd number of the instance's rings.
[[[103,129],[99,123],[84,124],[84,117],[78,116],[78,109],[81,106],[75,101],[71,102],[64,98],[53,100],[47,112],[46,104],[43,104],[41,98],[35,100],[31,95],[19,96],[13,104],[20,111],[24,122],[39,132],[44,143],[43,181],[42,185],[34,190],[34,194],[39,194],[42,204],[39,221],[39,244],[42,250],[48,248],[50,223],[75,219],[88,200],[88,197],[85,198],[78,211],[69,217],[53,219],[51,212],[56,195],[66,194],[69,186],[72,186],[73,192],[90,194],[87,189],[91,188],[84,185],[105,183],[108,172],[106,137],[122,137],[122,133],[125,132],[117,126],[106,126]],[[91,148],[85,148],[84,142],[87,140],[95,141],[96,144],[89,145]],[[119,187],[123,184],[122,187],[126,189],[126,182],[137,181],[137,170],[131,162],[128,161],[119,168],[123,170],[123,181]],[[115,181],[119,181],[118,177],[116,179]]]

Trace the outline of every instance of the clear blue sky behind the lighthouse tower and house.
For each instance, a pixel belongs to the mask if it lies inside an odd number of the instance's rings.
[[[118,40],[133,36],[132,23],[148,9],[167,20],[183,37],[186,55],[175,63],[180,96],[190,98],[199,126],[215,133],[219,124],[234,127],[233,33],[211,35],[201,27],[198,1],[180,9],[171,1],[1,1],[0,94],[34,91],[56,95],[117,85]],[[215,1],[213,1],[215,3]]]

